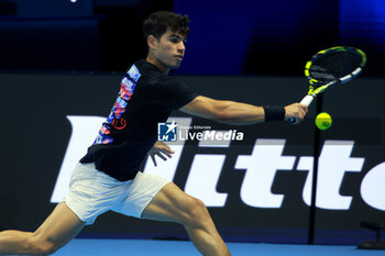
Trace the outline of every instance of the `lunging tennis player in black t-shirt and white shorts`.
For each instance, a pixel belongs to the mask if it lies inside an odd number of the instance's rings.
[[[165,158],[174,153],[156,143],[157,123],[178,109],[233,124],[289,118],[301,121],[307,107],[294,103],[263,108],[215,100],[194,93],[184,82],[169,77],[169,70],[178,68],[184,58],[188,22],[187,16],[165,11],[145,20],[147,57],[124,75],[110,115],[75,167],[69,192],[35,232],[1,232],[0,255],[53,254],[109,210],[180,223],[202,255],[230,255],[200,200],[164,178],[138,171],[147,154],[154,159],[155,155]]]

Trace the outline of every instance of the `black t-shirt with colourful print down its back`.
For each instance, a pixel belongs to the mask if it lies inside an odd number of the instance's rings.
[[[80,163],[124,181],[133,179],[157,140],[157,123],[197,94],[184,82],[143,60],[129,68],[118,99],[99,134]]]

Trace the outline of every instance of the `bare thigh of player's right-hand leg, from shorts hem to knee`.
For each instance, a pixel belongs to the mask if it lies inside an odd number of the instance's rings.
[[[175,183],[166,185],[142,212],[142,219],[185,223],[205,204],[185,193]],[[206,212],[205,212],[206,213]]]

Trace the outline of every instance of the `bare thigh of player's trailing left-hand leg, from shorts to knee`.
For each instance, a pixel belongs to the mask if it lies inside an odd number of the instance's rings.
[[[65,202],[62,202],[35,231],[34,236],[37,241],[50,242],[62,247],[74,238],[84,226],[85,222],[80,221]]]

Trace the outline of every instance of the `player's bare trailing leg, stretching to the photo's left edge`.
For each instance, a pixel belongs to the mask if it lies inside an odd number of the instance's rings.
[[[85,222],[59,203],[35,232],[0,232],[0,255],[50,255],[67,244],[85,226]]]

